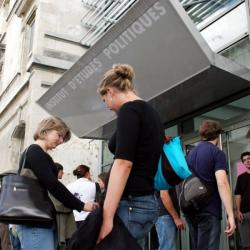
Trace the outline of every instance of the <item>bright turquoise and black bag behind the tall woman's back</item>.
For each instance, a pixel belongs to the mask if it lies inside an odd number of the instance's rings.
[[[169,142],[165,142],[154,177],[155,189],[171,189],[191,174],[181,147],[180,137],[174,137]]]

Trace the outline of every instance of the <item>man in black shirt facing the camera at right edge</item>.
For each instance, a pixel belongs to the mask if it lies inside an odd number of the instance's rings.
[[[246,172],[239,175],[235,188],[240,245],[243,250],[250,250],[250,152],[241,154],[240,159]]]

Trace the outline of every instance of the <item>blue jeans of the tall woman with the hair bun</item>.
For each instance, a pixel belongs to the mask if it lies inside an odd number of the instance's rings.
[[[147,237],[159,216],[159,204],[154,195],[129,196],[121,200],[117,214],[137,240]]]

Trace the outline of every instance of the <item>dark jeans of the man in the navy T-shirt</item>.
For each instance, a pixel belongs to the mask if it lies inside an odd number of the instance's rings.
[[[185,215],[193,250],[219,250],[221,223],[210,213]]]

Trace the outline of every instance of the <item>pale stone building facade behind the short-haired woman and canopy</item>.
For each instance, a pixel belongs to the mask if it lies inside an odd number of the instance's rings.
[[[36,101],[86,52],[85,11],[80,0],[0,1],[0,172],[17,168],[38,122],[49,116]],[[50,153],[68,182],[81,163],[97,176],[101,147],[73,136]]]

